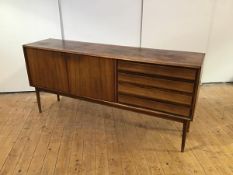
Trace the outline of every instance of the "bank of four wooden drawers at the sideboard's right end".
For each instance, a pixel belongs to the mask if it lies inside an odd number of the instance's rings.
[[[118,61],[118,102],[189,118],[196,69]]]

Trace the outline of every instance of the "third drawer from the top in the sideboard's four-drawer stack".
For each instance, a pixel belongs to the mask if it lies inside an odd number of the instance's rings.
[[[191,105],[192,102],[192,96],[189,94],[125,82],[118,82],[118,92],[183,105]]]

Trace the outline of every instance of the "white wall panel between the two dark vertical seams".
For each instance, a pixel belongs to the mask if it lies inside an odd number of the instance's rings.
[[[139,46],[141,0],[62,0],[65,39]]]

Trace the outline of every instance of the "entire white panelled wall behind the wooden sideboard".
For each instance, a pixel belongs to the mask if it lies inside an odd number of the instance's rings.
[[[65,38],[139,45],[141,0],[61,0]],[[60,38],[57,0],[0,0],[0,92],[32,90],[21,45]],[[233,81],[232,0],[144,0],[142,46],[207,52],[202,82]]]

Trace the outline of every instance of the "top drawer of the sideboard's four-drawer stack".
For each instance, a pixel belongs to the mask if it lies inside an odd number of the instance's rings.
[[[162,66],[155,64],[144,64],[130,61],[119,61],[118,70],[142,73],[157,76],[166,76],[173,78],[181,78],[186,80],[195,80],[196,70],[182,67]]]

